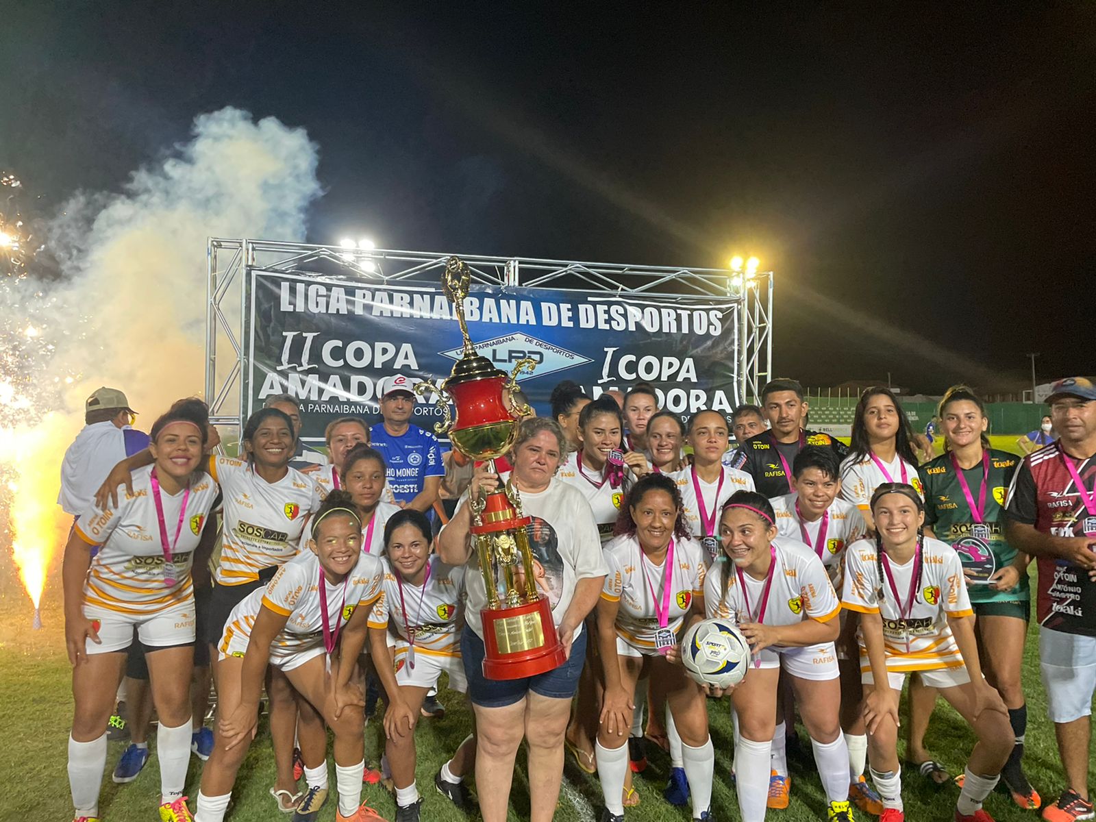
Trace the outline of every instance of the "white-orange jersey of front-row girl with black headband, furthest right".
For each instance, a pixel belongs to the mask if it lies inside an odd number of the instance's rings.
[[[932,671],[958,667],[962,664],[959,646],[951,636],[948,616],[971,616],[959,555],[947,543],[925,537],[922,548],[921,580],[914,593],[913,607],[907,597],[915,558],[905,564],[890,563],[894,589],[906,606],[905,616],[899,610],[890,582],[879,579],[876,544],[860,539],[845,550],[845,585],[842,604],[849,610],[879,614],[883,620],[883,642],[888,671]],[[860,669],[869,671],[868,652],[860,643]],[[909,650],[906,643],[909,642]]]

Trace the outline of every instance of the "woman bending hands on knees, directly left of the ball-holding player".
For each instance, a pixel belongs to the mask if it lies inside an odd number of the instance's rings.
[[[641,676],[665,683],[682,738],[693,818],[709,820],[716,758],[704,692],[675,664],[680,633],[704,614],[704,552],[689,536],[677,486],[665,475],[648,475],[632,487],[616,529],[618,536],[605,547],[608,574],[597,603],[605,670],[597,732],[597,773],[605,795],[602,822],[624,819],[626,743]]]

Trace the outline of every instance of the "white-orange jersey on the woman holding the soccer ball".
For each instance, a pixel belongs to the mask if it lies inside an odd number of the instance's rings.
[[[745,592],[734,563],[720,557],[708,569],[704,583],[704,603],[708,617],[733,619],[737,624],[796,625],[803,619],[826,623],[841,613],[841,601],[833,590],[822,560],[798,539],[776,537],[770,567],[773,584],[764,602],[768,578],[755,580],[745,571]],[[764,613],[762,605],[764,604]]]

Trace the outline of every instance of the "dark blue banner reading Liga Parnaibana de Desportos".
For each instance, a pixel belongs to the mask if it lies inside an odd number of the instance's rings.
[[[441,384],[463,351],[460,327],[441,286],[347,284],[252,271],[249,413],[277,393],[301,403],[302,437],[322,442],[339,416],[378,418],[378,383],[396,374]],[[688,419],[737,404],[738,302],[671,301],[638,295],[472,285],[468,331],[480,354],[507,374],[536,363],[518,384],[537,413],[571,379],[586,395],[650,383],[660,406]],[[420,398],[412,422],[442,419]]]

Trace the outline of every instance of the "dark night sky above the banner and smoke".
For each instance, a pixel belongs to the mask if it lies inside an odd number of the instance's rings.
[[[320,145],[309,241],[754,253],[811,386],[1096,370],[1096,4],[4,5],[0,169],[47,207],[235,105]]]

